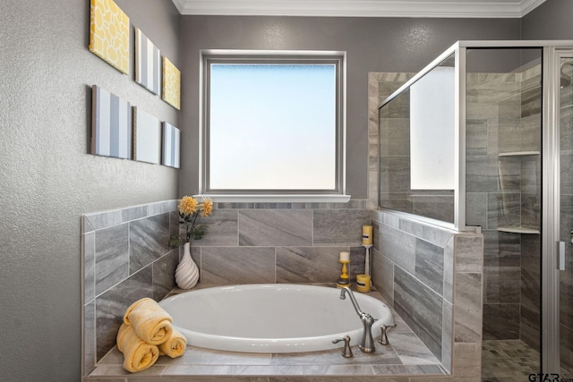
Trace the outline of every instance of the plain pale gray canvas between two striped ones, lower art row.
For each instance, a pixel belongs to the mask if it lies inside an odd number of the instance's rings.
[[[133,159],[158,165],[161,160],[161,123],[158,117],[133,106]]]

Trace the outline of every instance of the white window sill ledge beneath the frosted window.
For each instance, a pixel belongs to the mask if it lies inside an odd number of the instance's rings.
[[[193,198],[210,198],[218,203],[347,203],[350,195],[222,195],[199,194]]]

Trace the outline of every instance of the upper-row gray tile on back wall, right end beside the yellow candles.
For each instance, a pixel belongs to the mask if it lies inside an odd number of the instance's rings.
[[[371,213],[365,209],[315,210],[312,242],[314,245],[361,245],[362,226],[371,223]]]

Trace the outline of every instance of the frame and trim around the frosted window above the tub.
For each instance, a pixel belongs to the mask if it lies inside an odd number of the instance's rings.
[[[210,188],[210,64],[334,64],[336,72],[335,187],[329,190],[222,190]],[[216,201],[347,201],[346,195],[346,52],[201,50],[200,67],[201,196]]]

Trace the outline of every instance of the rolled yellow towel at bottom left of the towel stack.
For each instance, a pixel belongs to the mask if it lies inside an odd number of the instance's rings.
[[[154,344],[146,344],[133,330],[131,325],[122,324],[117,332],[117,349],[124,353],[124,369],[141,371],[148,369],[158,361],[159,348]]]

